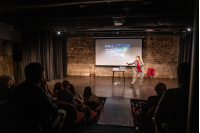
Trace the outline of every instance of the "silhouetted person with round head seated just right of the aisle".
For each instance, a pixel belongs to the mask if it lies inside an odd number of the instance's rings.
[[[158,105],[163,92],[166,90],[167,86],[164,83],[158,83],[155,86],[157,95],[148,97],[148,101],[141,107],[143,121],[145,121],[149,109]]]

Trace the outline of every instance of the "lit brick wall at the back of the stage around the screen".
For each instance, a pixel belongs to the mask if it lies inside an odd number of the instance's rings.
[[[178,61],[178,35],[146,36],[143,39],[142,57],[144,75],[155,68],[155,78],[176,78]],[[95,41],[93,37],[67,38],[67,75],[88,76],[89,67],[95,66]],[[112,76],[113,67],[95,67],[99,76]],[[135,67],[126,68],[126,77],[132,77]],[[118,75],[119,74],[119,75]],[[115,76],[122,76],[121,73]]]

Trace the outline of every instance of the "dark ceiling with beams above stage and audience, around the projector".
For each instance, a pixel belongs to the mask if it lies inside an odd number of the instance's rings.
[[[178,34],[193,27],[195,7],[194,0],[27,1],[1,0],[0,22],[67,35]],[[114,26],[119,16],[125,23]]]

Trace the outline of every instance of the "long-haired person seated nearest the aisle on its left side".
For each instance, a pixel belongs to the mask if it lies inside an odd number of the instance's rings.
[[[83,101],[88,102],[88,101],[95,101],[95,102],[100,102],[98,97],[96,95],[92,94],[91,88],[88,86],[84,90],[83,94]]]

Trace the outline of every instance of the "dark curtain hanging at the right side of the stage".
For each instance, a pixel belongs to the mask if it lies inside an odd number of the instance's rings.
[[[178,64],[191,62],[192,32],[182,32],[180,35]]]

